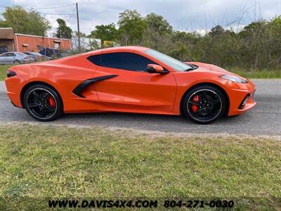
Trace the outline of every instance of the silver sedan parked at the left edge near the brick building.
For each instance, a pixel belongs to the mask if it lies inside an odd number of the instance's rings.
[[[0,64],[30,63],[32,60],[31,56],[21,52],[6,52],[0,55]]]

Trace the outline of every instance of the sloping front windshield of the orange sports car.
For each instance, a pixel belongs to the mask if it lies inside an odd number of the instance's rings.
[[[171,68],[174,68],[178,72],[183,72],[192,68],[192,66],[182,63],[176,58],[172,58],[171,56],[167,56],[164,53],[160,53],[152,49],[145,50],[145,53],[148,53],[148,55],[162,61],[162,63],[165,63],[166,65],[169,65]]]

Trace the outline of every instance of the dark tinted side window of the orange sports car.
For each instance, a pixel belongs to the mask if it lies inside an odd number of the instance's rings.
[[[155,64],[152,60],[136,53],[105,53],[88,58],[92,63],[106,68],[147,72],[148,64]]]

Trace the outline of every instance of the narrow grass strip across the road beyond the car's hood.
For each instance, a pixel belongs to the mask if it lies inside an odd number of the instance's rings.
[[[281,79],[281,70],[242,70],[240,68],[226,68],[248,79]]]

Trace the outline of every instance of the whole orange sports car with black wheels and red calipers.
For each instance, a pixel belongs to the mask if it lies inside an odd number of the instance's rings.
[[[13,105],[39,121],[63,113],[129,112],[184,115],[208,124],[256,105],[248,79],[141,46],[16,65],[5,82]]]

